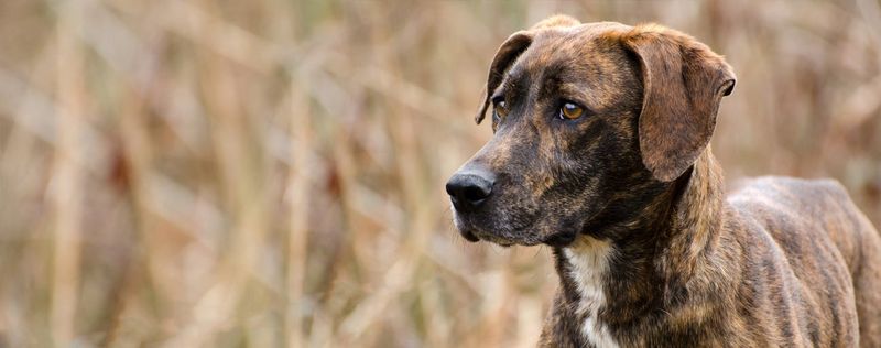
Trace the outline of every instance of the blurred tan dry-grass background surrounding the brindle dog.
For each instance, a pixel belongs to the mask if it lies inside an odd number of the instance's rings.
[[[467,243],[444,183],[553,13],[726,55],[728,182],[831,176],[881,226],[878,0],[2,0],[0,347],[532,346],[547,248]]]

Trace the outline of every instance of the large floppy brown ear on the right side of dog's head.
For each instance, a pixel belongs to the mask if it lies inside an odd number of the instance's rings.
[[[637,26],[622,43],[642,70],[642,163],[656,180],[671,182],[709,143],[719,101],[735,88],[735,74],[706,45],[660,25]]]

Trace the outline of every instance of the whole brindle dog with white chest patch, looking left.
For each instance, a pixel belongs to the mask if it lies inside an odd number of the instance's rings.
[[[725,59],[656,24],[557,15],[508,37],[447,182],[469,241],[546,244],[542,347],[881,347],[881,238],[831,180],[726,196]]]

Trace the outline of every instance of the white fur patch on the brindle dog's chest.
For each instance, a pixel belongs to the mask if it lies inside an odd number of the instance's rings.
[[[612,251],[608,241],[586,236],[563,249],[563,254],[572,265],[569,275],[575,280],[576,289],[581,297],[577,308],[578,314],[585,316],[585,320],[581,323],[581,334],[595,347],[618,347],[609,328],[597,318],[597,312],[606,304],[602,278],[609,272],[609,258]]]

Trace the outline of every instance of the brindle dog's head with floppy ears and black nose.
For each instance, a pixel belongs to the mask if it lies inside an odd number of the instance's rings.
[[[476,118],[491,109],[494,135],[446,185],[456,227],[565,246],[643,208],[705,151],[733,85],[720,56],[659,25],[554,17],[514,33]]]

